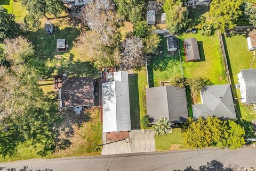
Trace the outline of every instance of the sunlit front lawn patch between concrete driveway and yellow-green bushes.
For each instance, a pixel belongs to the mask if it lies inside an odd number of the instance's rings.
[[[166,135],[155,135],[155,143],[157,151],[186,148],[180,128],[172,129],[172,133]]]

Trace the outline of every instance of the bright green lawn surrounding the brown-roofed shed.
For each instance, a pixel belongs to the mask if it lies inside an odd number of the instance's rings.
[[[200,61],[186,62],[183,40],[186,38],[196,38],[198,43]],[[202,36],[201,31],[196,34],[183,33],[179,36],[182,56],[182,66],[185,78],[208,78],[214,84],[228,83],[225,74],[223,58],[219,52],[219,41],[216,33],[212,36]]]

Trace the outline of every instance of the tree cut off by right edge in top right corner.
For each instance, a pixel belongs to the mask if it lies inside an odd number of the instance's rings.
[[[256,27],[256,3],[254,4],[251,2],[245,2],[245,10],[244,10],[245,16],[249,22]]]

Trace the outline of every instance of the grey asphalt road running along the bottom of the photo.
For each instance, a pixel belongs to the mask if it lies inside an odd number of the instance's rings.
[[[256,168],[256,148],[180,150],[164,153],[32,159],[1,163],[0,170],[244,170]],[[14,169],[15,168],[15,169]]]

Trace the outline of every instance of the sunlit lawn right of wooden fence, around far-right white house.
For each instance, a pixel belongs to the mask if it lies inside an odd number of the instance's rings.
[[[239,89],[235,88],[238,83],[237,74],[241,69],[250,69],[253,53],[248,50],[247,39],[244,35],[226,36],[223,39],[229,66],[230,78],[232,82],[233,96],[241,98]],[[252,68],[256,69],[256,62],[252,63]],[[237,110],[241,114],[242,119],[251,122],[256,119],[256,112],[252,107],[236,102]],[[244,123],[243,123],[244,124]],[[242,125],[243,125],[242,124]]]

